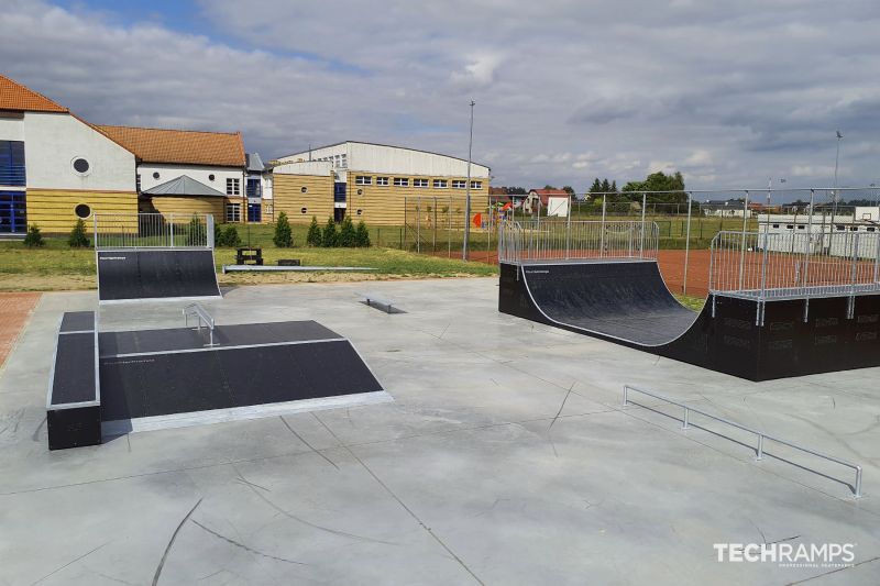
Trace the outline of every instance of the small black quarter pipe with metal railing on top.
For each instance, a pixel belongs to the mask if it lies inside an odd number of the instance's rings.
[[[211,215],[99,214],[95,244],[101,303],[221,297]]]

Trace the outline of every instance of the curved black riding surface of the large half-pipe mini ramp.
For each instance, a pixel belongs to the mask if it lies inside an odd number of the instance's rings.
[[[525,265],[522,274],[551,320],[634,344],[675,340],[697,317],[672,297],[652,261]]]

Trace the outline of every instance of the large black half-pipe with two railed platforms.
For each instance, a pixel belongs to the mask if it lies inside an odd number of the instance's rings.
[[[822,286],[780,283],[784,286],[769,289],[768,274],[774,270],[769,254],[755,251],[749,256],[759,255],[758,262],[747,263],[743,245],[738,266],[746,272],[754,266],[762,286],[749,287],[749,275],[733,272],[734,280],[746,287],[722,291],[716,278],[719,288],[712,290],[702,311],[694,312],[667,288],[656,253],[644,247],[644,226],[631,224],[628,243],[616,242],[616,235],[591,235],[590,242],[615,243],[612,250],[600,248],[601,254],[595,251],[592,258],[571,258],[576,256],[572,251],[532,244],[536,239],[571,242],[564,232],[549,232],[552,228],[544,225],[529,236],[521,228],[513,233],[505,228],[498,310],[750,380],[880,366],[876,285],[855,279],[829,285],[823,277]],[[746,241],[741,233],[735,235],[738,245]],[[529,245],[524,245],[528,237]],[[585,256],[583,248],[576,252]],[[714,270],[725,275],[729,267],[715,252]],[[858,258],[844,261],[846,274],[857,275]]]

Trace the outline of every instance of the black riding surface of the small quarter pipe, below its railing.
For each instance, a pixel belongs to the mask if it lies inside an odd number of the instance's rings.
[[[101,301],[219,296],[210,250],[98,252],[98,298]]]

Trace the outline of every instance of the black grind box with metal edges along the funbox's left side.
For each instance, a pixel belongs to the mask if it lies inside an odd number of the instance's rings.
[[[101,443],[98,331],[94,311],[64,313],[46,397],[48,449]]]

